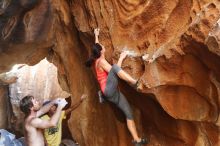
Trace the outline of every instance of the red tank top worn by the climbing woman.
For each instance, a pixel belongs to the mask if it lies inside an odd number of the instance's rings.
[[[97,80],[98,80],[98,82],[99,82],[101,91],[102,91],[102,93],[104,93],[104,91],[105,91],[105,86],[106,86],[106,82],[107,82],[108,73],[107,73],[106,71],[100,71],[100,70],[97,68],[97,63],[98,63],[98,62],[99,62],[99,59],[97,59],[97,60],[95,61],[96,77],[97,77]]]

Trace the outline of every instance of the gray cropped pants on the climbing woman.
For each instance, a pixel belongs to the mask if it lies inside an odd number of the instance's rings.
[[[118,75],[121,68],[114,64],[108,73],[107,83],[104,91],[105,99],[116,104],[126,115],[126,118],[133,120],[131,107],[125,96],[118,89]]]

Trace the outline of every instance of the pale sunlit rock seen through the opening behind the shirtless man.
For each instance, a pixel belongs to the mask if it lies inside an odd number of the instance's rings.
[[[32,95],[40,104],[54,98],[66,98],[70,94],[63,91],[58,83],[57,68],[46,59],[34,66],[16,65],[8,74],[17,77],[17,81],[9,85],[9,96],[13,108],[16,131],[21,131],[24,115],[20,111],[19,102],[27,95]]]

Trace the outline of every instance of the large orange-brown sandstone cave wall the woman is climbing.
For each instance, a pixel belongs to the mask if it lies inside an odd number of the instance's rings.
[[[3,0],[0,16],[1,72],[53,58],[73,102],[89,94],[69,120],[82,146],[132,145],[123,114],[98,104],[84,66],[96,27],[109,62],[134,54],[123,69],[140,78],[139,90],[120,87],[149,145],[220,145],[219,0]]]

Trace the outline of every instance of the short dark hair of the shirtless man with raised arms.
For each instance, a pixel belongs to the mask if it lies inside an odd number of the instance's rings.
[[[30,114],[31,108],[34,106],[32,102],[33,98],[33,96],[28,95],[20,101],[20,109],[26,116]]]

